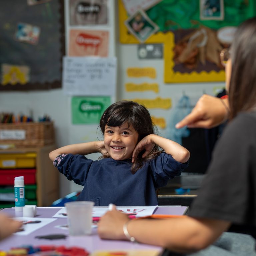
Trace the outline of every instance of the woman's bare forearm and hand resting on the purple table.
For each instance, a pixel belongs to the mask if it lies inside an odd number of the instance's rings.
[[[123,232],[127,221],[127,231],[136,241],[180,253],[206,248],[230,226],[227,221],[191,217],[130,221],[125,214],[114,208],[101,217],[98,224],[99,236],[103,239],[128,240]]]

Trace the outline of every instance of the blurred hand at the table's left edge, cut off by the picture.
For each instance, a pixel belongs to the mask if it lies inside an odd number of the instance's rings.
[[[13,220],[4,214],[0,214],[0,240],[10,236],[22,226],[21,221]]]

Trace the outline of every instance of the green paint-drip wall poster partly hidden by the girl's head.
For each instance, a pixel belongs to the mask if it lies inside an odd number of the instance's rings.
[[[110,103],[109,96],[73,97],[71,103],[72,124],[98,124]]]

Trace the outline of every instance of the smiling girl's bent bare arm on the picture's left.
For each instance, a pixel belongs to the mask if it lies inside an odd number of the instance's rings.
[[[78,143],[67,145],[50,152],[49,157],[52,161],[60,154],[79,154],[79,155],[88,155],[92,153],[101,153],[102,155],[106,155],[107,151],[104,147],[104,141],[92,141],[85,143]]]

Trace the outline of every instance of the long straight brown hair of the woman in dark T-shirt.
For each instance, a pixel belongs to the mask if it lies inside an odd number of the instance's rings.
[[[256,106],[256,17],[243,22],[231,46],[230,119]]]

